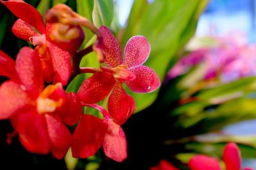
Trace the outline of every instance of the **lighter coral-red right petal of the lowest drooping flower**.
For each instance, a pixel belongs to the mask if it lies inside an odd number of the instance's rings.
[[[122,162],[127,157],[127,143],[124,130],[113,120],[104,120],[108,125],[103,139],[103,150],[107,157]]]

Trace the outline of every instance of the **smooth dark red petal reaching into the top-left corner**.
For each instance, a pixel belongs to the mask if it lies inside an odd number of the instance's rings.
[[[1,1],[16,17],[35,27],[40,33],[45,33],[44,21],[41,14],[31,6],[20,0]]]

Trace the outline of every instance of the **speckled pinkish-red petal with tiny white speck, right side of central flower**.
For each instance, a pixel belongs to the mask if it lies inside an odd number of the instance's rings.
[[[124,83],[136,93],[149,93],[160,86],[159,77],[148,66],[136,66],[128,68],[129,71],[136,75],[134,81],[124,81]]]

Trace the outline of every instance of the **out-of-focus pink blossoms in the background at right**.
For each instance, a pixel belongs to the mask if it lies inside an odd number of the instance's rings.
[[[236,31],[214,40],[218,42],[214,47],[202,47],[180,59],[168,77],[182,75],[201,62],[207,65],[204,80],[220,77],[221,82],[230,82],[256,75],[256,45],[248,45],[243,33]]]

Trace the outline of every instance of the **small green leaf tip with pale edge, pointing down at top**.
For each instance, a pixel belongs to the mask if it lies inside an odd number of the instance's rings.
[[[110,27],[113,20],[114,3],[113,0],[94,0],[93,24],[97,27]]]

